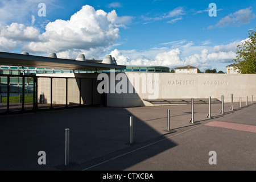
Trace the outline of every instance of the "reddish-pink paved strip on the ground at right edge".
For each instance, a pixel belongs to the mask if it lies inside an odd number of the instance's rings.
[[[229,123],[229,122],[222,122],[222,121],[212,121],[205,125],[206,126],[222,127],[225,129],[232,129],[232,130],[249,131],[249,132],[256,133],[256,126],[254,126],[254,125],[243,125],[243,124],[238,124],[238,123]]]

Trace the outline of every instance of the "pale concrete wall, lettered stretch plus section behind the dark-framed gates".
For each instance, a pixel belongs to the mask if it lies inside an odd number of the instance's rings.
[[[97,79],[98,74],[38,74],[37,76],[73,77],[68,79],[68,104],[79,104],[79,79],[75,77]],[[209,96],[221,100],[221,95],[224,95],[224,102],[230,102],[231,93],[234,102],[238,102],[240,97],[244,102],[248,96],[250,103],[252,95],[256,101],[256,75],[148,72],[107,73],[106,75],[109,80],[107,106],[151,106],[152,104],[145,100],[196,99],[208,98]],[[81,104],[91,104],[92,93],[94,94],[94,104],[101,101],[100,94],[97,92],[97,85],[102,81],[96,79],[94,79],[93,90],[92,80],[82,79]],[[46,98],[44,103],[49,103],[51,98],[50,79],[39,78],[38,85],[38,96],[44,94]],[[121,89],[122,93],[117,93],[117,89]],[[113,90],[114,93],[111,93]],[[57,104],[65,104],[65,78],[53,78],[52,101]]]

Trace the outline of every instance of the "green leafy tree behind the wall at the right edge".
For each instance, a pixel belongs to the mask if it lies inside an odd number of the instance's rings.
[[[237,46],[237,57],[233,59],[235,69],[242,74],[256,73],[256,32],[249,30],[249,38]]]

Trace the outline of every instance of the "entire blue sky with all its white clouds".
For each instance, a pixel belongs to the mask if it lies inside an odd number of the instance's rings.
[[[39,16],[39,3],[46,16]],[[217,16],[209,16],[210,3]],[[110,54],[123,65],[225,72],[255,28],[255,9],[256,1],[3,0],[0,51],[68,59]]]

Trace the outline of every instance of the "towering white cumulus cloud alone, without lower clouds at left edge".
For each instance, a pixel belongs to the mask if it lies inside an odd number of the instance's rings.
[[[129,20],[118,17],[115,10],[106,13],[86,5],[69,20],[49,22],[46,31],[39,35],[41,41],[30,42],[23,49],[28,52],[65,52],[69,49],[106,48],[119,38],[120,23]]]

